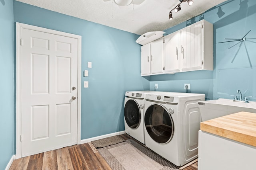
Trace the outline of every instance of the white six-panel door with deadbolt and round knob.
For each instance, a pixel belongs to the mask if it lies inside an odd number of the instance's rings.
[[[78,39],[22,28],[21,157],[77,142]]]

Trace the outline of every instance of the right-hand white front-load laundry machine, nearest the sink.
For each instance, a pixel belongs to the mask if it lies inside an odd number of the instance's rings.
[[[204,94],[154,93],[145,100],[145,145],[176,166],[198,157],[200,111]]]

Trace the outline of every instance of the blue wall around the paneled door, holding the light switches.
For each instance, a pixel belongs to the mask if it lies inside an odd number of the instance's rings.
[[[123,103],[128,90],[148,90],[140,76],[139,35],[14,1],[14,22],[82,36],[81,139],[124,130]],[[87,62],[92,68],[87,68]]]

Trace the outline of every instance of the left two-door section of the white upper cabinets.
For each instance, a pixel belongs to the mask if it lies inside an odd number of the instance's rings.
[[[141,47],[141,75],[163,72],[163,39],[158,39]]]

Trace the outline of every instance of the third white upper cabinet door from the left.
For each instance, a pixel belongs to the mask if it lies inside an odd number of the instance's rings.
[[[165,37],[164,43],[165,72],[180,71],[180,31]]]

